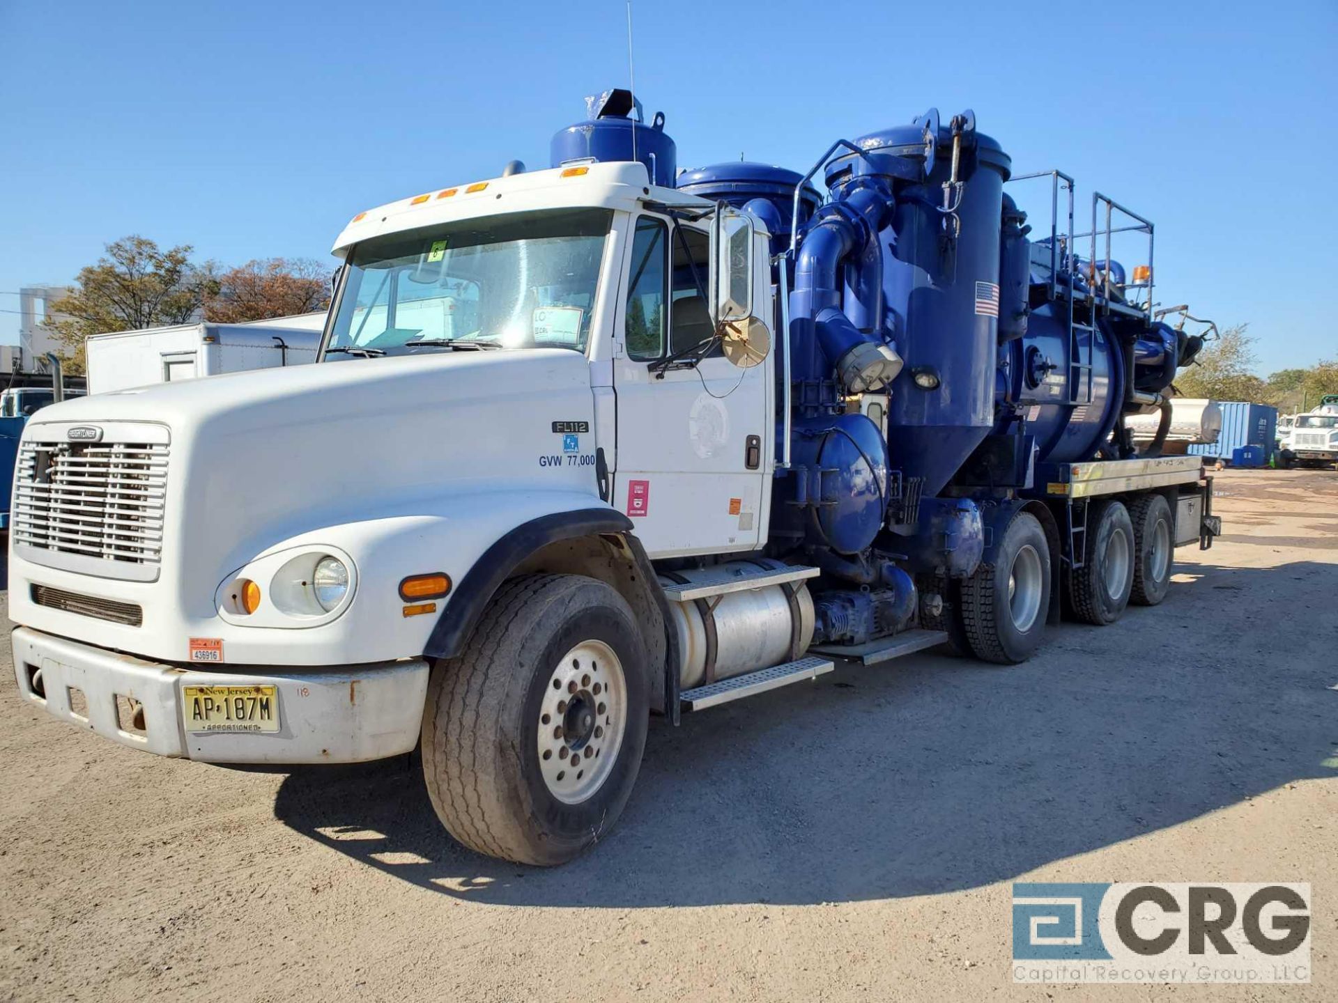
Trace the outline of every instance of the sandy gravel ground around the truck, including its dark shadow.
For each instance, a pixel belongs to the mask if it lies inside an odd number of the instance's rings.
[[[1338,473],[1219,475],[1156,610],[1013,669],[846,667],[654,721],[555,871],[407,761],[253,773],[47,718],[0,666],[0,998],[1335,999]],[[1010,883],[1310,881],[1314,982],[1014,986]]]

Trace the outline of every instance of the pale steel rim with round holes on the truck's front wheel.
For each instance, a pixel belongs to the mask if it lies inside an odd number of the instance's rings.
[[[628,681],[602,641],[582,641],[559,659],[543,689],[537,753],[543,784],[574,805],[603,786],[628,730]]]

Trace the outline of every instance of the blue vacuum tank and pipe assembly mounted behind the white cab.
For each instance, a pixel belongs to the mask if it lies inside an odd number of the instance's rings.
[[[1094,195],[1092,251],[1078,255],[1072,215],[1058,229],[1060,179],[1070,191],[1072,179],[1048,173],[1054,219],[1033,243],[1005,193],[1012,158],[971,111],[931,108],[840,140],[808,174],[744,160],[676,174],[662,115],[645,124],[619,90],[587,108],[554,136],[553,166],[637,160],[652,183],[732,206],[769,234],[785,459],[764,555],[822,570],[819,641],[919,625],[1014,662],[1061,607],[1101,623],[1131,595],[1159,600],[1153,570],[1131,570],[1152,560],[1148,526],[1171,519],[1177,492],[1199,491],[1206,514],[1211,488],[1192,460],[1148,467],[1164,431],[1136,452],[1124,417],[1160,412],[1168,425],[1165,391],[1203,338],[1152,316],[1151,265],[1131,281],[1097,257],[1098,202],[1108,218],[1128,210]],[[1133,218],[1151,261],[1152,225]],[[1128,476],[1073,489],[1092,460],[1131,461]],[[1203,524],[1207,546],[1215,530]],[[1103,582],[1121,580],[1123,594],[1101,598]]]

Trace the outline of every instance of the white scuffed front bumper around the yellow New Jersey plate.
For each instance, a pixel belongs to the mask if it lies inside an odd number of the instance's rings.
[[[412,750],[428,677],[421,659],[333,670],[182,669],[29,627],[13,631],[13,669],[24,699],[120,745],[203,762],[265,764],[364,762]],[[186,730],[182,687],[229,685],[277,686],[278,732]],[[142,705],[142,728],[126,726],[118,697]]]

